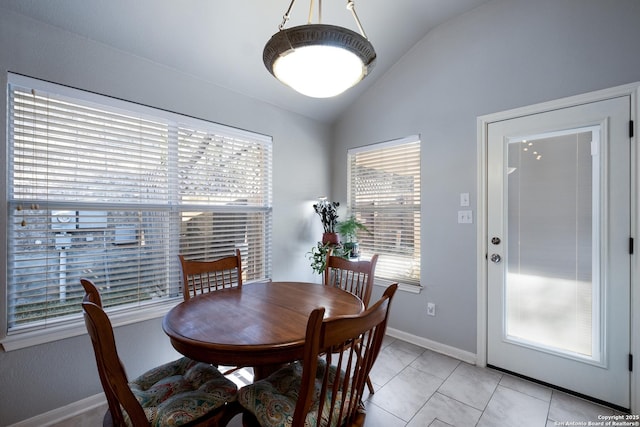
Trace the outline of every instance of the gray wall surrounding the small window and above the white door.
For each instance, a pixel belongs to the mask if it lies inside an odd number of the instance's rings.
[[[457,224],[461,192],[477,220],[476,118],[640,81],[639,22],[637,0],[491,1],[427,34],[342,116],[332,183],[340,202],[348,148],[422,136],[425,288],[396,295],[391,327],[476,352],[476,224]]]

